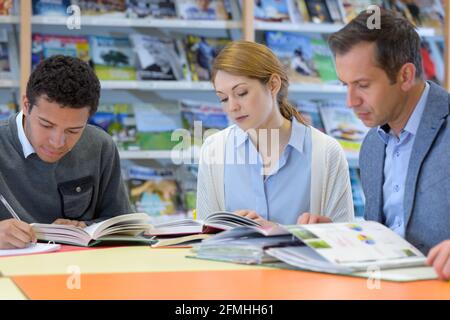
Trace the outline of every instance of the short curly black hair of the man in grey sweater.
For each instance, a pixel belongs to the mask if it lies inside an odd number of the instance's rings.
[[[30,112],[36,99],[45,95],[49,102],[66,108],[89,107],[89,114],[97,111],[100,81],[84,61],[57,55],[43,60],[31,73],[26,92]]]

